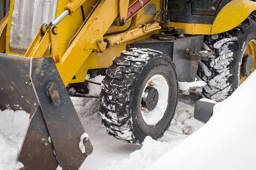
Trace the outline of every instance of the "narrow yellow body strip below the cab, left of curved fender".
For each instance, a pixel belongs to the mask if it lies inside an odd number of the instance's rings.
[[[170,22],[170,27],[174,27],[175,29],[184,29],[185,34],[210,35],[212,24],[187,24]]]

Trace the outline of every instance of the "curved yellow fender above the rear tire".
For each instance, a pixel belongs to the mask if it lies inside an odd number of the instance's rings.
[[[237,27],[256,10],[256,2],[250,0],[233,0],[229,2],[214,20],[211,34],[229,31]]]

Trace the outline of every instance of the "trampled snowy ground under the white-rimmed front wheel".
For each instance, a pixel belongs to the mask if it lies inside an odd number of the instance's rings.
[[[179,103],[176,119],[172,121],[163,138],[159,141],[147,138],[143,146],[131,145],[114,139],[102,128],[101,117],[97,108],[100,104],[98,99],[72,97],[72,101],[94,147],[93,154],[86,158],[80,168],[81,170],[142,169],[145,164],[152,163],[156,158],[187,138],[187,134],[191,134],[203,126],[203,123],[192,117],[193,107],[191,105]],[[115,166],[117,164],[118,166]]]

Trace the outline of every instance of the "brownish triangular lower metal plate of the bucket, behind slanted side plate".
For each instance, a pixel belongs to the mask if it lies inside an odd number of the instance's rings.
[[[48,141],[49,134],[44,124],[40,108],[32,116],[27,135],[20,149],[18,161],[25,169],[56,169],[59,163]]]

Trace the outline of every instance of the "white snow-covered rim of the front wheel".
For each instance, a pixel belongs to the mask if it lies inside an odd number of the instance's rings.
[[[158,103],[149,111],[146,107],[143,107],[143,98],[147,97],[146,88],[153,87],[158,91]],[[164,113],[166,112],[168,106],[168,95],[169,95],[169,86],[166,78],[161,74],[156,74],[152,76],[146,86],[143,89],[142,99],[141,99],[141,115],[143,121],[150,126],[154,126],[160,120],[162,120]]]

